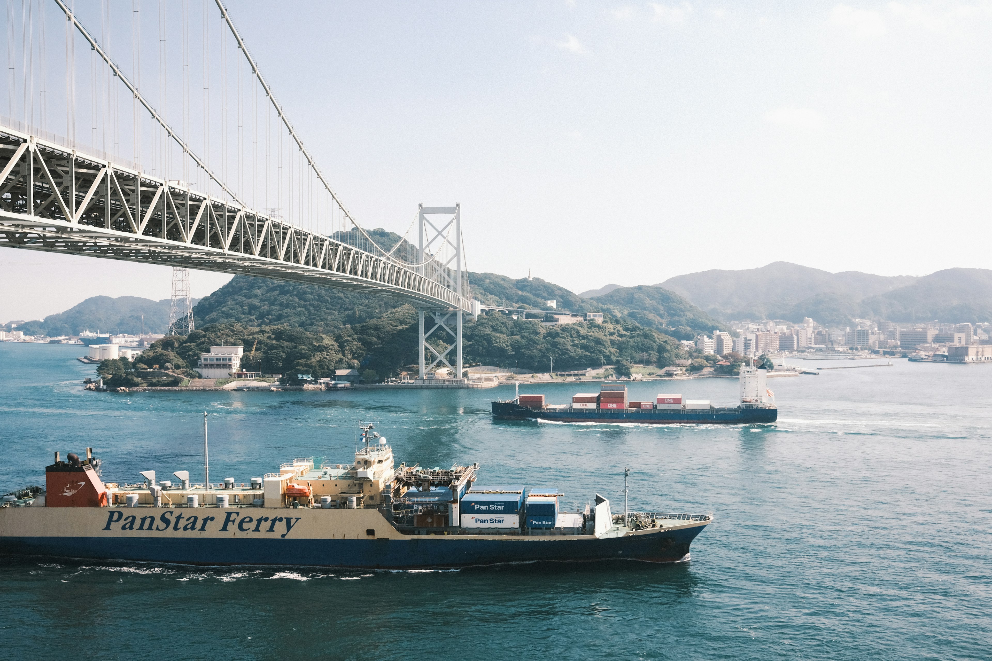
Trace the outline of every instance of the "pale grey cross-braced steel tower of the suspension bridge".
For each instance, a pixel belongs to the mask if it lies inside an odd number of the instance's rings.
[[[432,218],[429,218],[429,216],[432,216]],[[449,218],[447,222],[444,222],[443,218],[435,221],[433,217],[436,216],[449,216]],[[417,218],[417,257],[420,274],[462,295],[461,285],[465,261],[462,256],[461,246],[461,205],[424,206],[421,204],[418,209]],[[453,237],[451,236],[452,234],[454,235]],[[436,257],[445,246],[450,248],[452,253],[446,262],[441,263]],[[454,263],[453,266],[452,262]],[[428,373],[438,363],[444,364],[453,373],[452,376],[454,379],[460,381],[462,379],[461,306],[449,307],[443,310],[425,310],[422,308],[418,312],[421,331],[420,381],[423,383],[427,379]],[[434,324],[431,330],[427,330],[425,323],[429,314]],[[434,334],[435,332],[436,335]],[[444,348],[441,344],[446,344],[447,347]],[[453,366],[448,358],[448,354],[452,350],[455,352]],[[430,365],[428,365],[429,358],[433,359]]]

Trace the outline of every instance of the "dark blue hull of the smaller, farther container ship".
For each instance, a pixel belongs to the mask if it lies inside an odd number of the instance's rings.
[[[778,408],[680,409],[577,409],[567,411],[528,408],[513,401],[492,402],[493,416],[503,420],[555,420],[556,422],[638,422],[642,424],[767,424],[779,419]]]

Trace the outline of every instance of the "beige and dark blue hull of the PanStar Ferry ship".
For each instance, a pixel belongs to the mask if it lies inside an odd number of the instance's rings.
[[[291,565],[350,569],[417,569],[508,562],[582,562],[628,559],[678,562],[709,523],[708,516],[672,521],[670,527],[630,530],[618,536],[574,535],[404,535],[374,509],[252,509],[249,513],[201,508],[186,530],[186,508],[139,510],[154,514],[152,530],[122,530],[133,509],[5,507],[0,509],[0,552],[102,560],[191,565]],[[254,525],[263,514],[275,518]],[[183,514],[183,517],[178,516]],[[253,517],[252,514],[255,516]],[[285,524],[287,516],[291,523]],[[224,525],[226,518],[231,518]],[[179,519],[179,523],[177,523]],[[195,519],[195,515],[193,515]],[[195,520],[194,520],[195,523]],[[240,525],[239,525],[240,523]],[[287,532],[287,527],[289,531]],[[160,529],[161,528],[161,529]],[[284,534],[286,533],[286,534]]]

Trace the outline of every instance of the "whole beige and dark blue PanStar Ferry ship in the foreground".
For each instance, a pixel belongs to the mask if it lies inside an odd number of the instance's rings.
[[[204,421],[205,437],[205,421]],[[295,459],[246,483],[104,483],[100,462],[69,454],[45,488],[3,496],[0,553],[195,565],[353,569],[508,562],[688,559],[711,514],[613,513],[595,495],[578,511],[555,487],[486,486],[479,465],[395,466],[372,430],[350,465]],[[204,455],[206,455],[204,438]]]

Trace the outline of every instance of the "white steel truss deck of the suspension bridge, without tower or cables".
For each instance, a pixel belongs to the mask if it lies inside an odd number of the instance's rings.
[[[471,300],[405,265],[0,126],[0,247],[357,289],[421,310]]]

